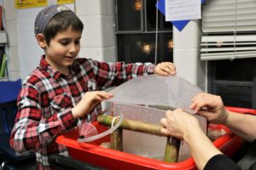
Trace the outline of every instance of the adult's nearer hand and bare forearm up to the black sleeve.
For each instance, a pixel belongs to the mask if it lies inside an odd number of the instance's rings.
[[[162,118],[160,122],[166,127],[161,129],[162,133],[184,139],[189,145],[198,169],[204,169],[212,156],[222,154],[203,133],[195,116],[177,109],[166,111],[166,118]]]

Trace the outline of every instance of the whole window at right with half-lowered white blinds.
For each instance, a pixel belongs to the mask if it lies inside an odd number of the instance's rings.
[[[201,59],[209,64],[208,91],[224,105],[256,108],[255,7],[254,0],[207,0],[203,7]]]

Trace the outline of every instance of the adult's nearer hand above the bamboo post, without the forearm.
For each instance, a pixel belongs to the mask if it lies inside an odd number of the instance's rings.
[[[177,139],[187,139],[193,127],[193,130],[200,130],[200,124],[195,116],[190,115],[180,109],[175,111],[166,111],[166,117],[160,120],[163,128],[161,133],[171,135]]]

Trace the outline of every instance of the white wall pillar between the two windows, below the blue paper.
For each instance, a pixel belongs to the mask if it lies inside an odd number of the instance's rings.
[[[173,26],[174,54],[173,62],[177,68],[177,76],[206,89],[205,61],[200,60],[201,22],[190,20],[189,24],[178,31]]]

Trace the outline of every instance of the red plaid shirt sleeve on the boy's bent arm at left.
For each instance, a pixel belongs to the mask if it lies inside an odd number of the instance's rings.
[[[40,100],[38,89],[32,85],[25,85],[21,89],[15,127],[10,137],[10,146],[16,152],[38,150],[76,125],[70,108],[43,116]]]

